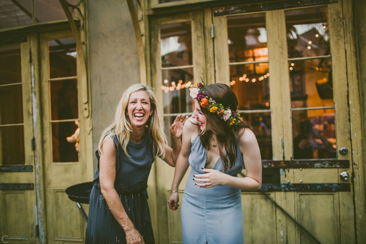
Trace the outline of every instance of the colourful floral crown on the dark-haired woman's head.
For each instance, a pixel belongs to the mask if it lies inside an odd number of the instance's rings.
[[[217,114],[221,119],[225,120],[229,126],[236,126],[239,124],[242,120],[242,118],[240,118],[240,113],[231,111],[229,107],[225,108],[221,103],[216,103],[215,100],[212,100],[212,98],[204,93],[204,86],[205,84],[203,82],[191,85],[190,96],[193,100],[197,100],[201,107],[206,108],[211,113]]]

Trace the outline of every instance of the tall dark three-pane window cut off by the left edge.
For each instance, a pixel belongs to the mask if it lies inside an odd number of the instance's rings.
[[[0,165],[24,165],[20,45],[0,47]]]

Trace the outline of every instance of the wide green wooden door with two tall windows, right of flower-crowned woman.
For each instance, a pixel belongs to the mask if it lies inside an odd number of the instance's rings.
[[[231,85],[257,136],[263,187],[295,189],[267,194],[321,243],[353,242],[342,4],[216,13],[216,82]],[[260,193],[242,193],[242,207],[246,242],[315,243]]]

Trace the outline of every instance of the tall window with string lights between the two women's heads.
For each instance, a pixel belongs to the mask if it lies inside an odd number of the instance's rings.
[[[193,100],[189,87],[194,84],[191,21],[160,25],[160,50],[165,133],[177,114],[190,114]]]

